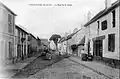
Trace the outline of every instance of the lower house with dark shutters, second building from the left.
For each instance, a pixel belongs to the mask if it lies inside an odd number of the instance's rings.
[[[15,61],[24,59],[28,55],[28,32],[21,26],[15,26]]]

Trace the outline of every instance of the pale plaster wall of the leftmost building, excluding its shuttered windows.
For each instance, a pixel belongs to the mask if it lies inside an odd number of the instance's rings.
[[[0,4],[0,37],[2,38],[1,39],[1,52],[4,57],[4,59],[9,59],[9,42],[12,43],[12,57],[14,57],[14,18],[15,16],[13,14],[12,15],[12,32],[9,33],[8,32],[8,14],[11,14],[8,10],[6,10],[6,8],[4,8],[1,4]]]

